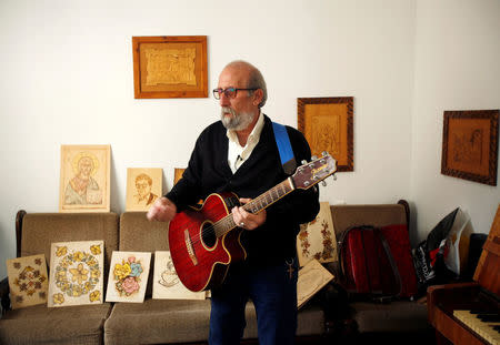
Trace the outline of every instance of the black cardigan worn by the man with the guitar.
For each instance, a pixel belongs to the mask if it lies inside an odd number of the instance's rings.
[[[287,132],[296,161],[309,161],[311,151],[302,133],[290,126]],[[233,192],[239,197],[254,199],[287,177],[267,115],[259,143],[234,174],[228,164],[226,128],[218,121],[200,134],[182,179],[166,196],[180,212],[211,193]],[[276,264],[297,255],[299,225],[318,214],[319,194],[316,187],[296,190],[266,211],[266,223],[253,231],[243,231],[241,236],[248,262],[258,265]]]

